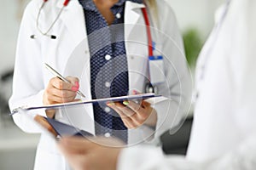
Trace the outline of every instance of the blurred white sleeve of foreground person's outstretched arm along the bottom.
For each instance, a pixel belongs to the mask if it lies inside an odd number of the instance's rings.
[[[236,150],[208,161],[188,161],[183,156],[164,156],[160,148],[137,146],[122,150],[119,170],[249,170],[256,166],[256,136],[246,139]]]

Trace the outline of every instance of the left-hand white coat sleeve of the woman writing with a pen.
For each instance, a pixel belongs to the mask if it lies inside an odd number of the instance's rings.
[[[30,38],[37,34],[36,17],[38,1],[30,2],[24,12],[20,24],[20,32],[16,47],[15,73],[13,79],[13,94],[9,99],[9,108],[13,111],[20,106],[43,105],[44,77],[42,73],[42,58],[40,42]],[[45,116],[44,111],[29,112]],[[27,133],[38,133],[34,123],[30,123],[21,114],[13,116],[15,124]]]

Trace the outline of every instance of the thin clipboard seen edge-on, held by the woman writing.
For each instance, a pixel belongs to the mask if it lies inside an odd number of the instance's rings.
[[[101,103],[107,103],[107,102],[121,102],[126,100],[142,100],[142,99],[156,99],[156,98],[166,99],[165,97],[159,94],[152,94],[152,93],[136,94],[136,95],[120,96],[120,97],[105,98],[105,99],[91,99],[91,100],[69,102],[69,103],[55,104],[55,105],[38,105],[38,106],[28,106],[28,107],[22,106],[11,111],[10,115],[15,115],[19,111],[32,111],[32,110],[41,110],[41,109],[51,110],[51,109],[61,109],[63,107],[71,107],[76,105],[88,105],[88,104],[99,105]],[[160,101],[164,99],[160,99]]]

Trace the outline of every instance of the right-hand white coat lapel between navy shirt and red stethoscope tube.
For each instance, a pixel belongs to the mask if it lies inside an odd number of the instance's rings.
[[[125,3],[125,49],[129,71],[129,89],[144,91],[145,77],[147,77],[148,48],[145,22],[141,8],[144,4]]]

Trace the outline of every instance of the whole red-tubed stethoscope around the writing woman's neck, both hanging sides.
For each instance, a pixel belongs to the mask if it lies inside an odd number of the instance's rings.
[[[44,8],[44,5],[45,3],[47,3],[48,0],[44,0],[41,7],[39,8],[39,11],[38,11],[38,16],[37,16],[37,29],[38,31],[45,37],[49,37],[51,39],[56,39],[57,37],[55,35],[49,35],[49,31],[53,28],[53,26],[55,26],[55,23],[57,20],[59,20],[60,16],[61,16],[61,13],[63,11],[63,8],[67,7],[68,3],[70,2],[70,0],[65,0],[65,2],[63,3],[63,6],[60,10],[60,12],[57,14],[55,20],[53,21],[53,23],[49,26],[48,30],[47,31],[42,31],[42,29],[39,27],[39,18],[40,18],[40,14],[41,14],[41,11],[42,9]],[[148,35],[148,59],[149,57],[152,57],[154,56],[154,53],[153,53],[153,41],[152,41],[152,37],[151,37],[151,31],[150,31],[150,22],[149,22],[149,19],[148,19],[148,13],[147,13],[147,9],[146,8],[142,8],[142,12],[143,12],[143,18],[145,20],[145,24],[146,24],[146,30],[147,30],[147,35]],[[36,35],[32,35],[31,36],[32,39],[36,39]],[[148,83],[146,83],[146,86],[145,86],[145,93],[156,93],[157,92],[157,88],[156,86],[153,86],[151,83],[150,83],[150,75],[148,77]]]

